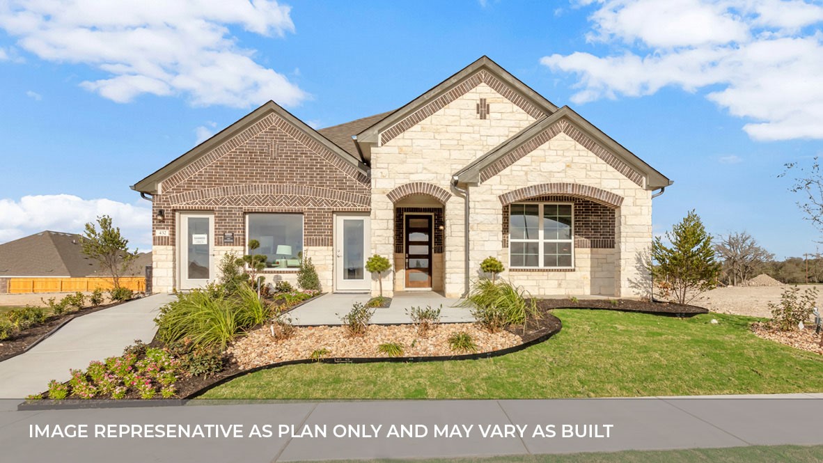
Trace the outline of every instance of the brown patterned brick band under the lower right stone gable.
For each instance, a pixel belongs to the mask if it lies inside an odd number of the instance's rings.
[[[522,159],[523,156],[528,155],[533,150],[537,150],[537,148],[546,144],[547,141],[556,137],[560,132],[564,132],[566,135],[574,139],[574,141],[577,141],[580,145],[583,145],[587,150],[591,151],[598,158],[606,161],[606,163],[611,165],[611,167],[625,175],[625,178],[630,179],[632,182],[641,187],[643,186],[642,174],[633,169],[629,164],[625,164],[625,162],[623,162],[620,158],[612,154],[611,151],[600,146],[597,141],[592,140],[564,119],[560,119],[556,123],[551,124],[551,126],[546,127],[545,130],[532,137],[529,141],[523,143],[523,145],[518,146],[516,149],[511,150],[508,154],[501,157],[499,160],[496,160],[492,164],[486,166],[486,168],[482,169],[480,172],[480,181],[485,182],[489,178],[494,177],[496,174],[500,174],[503,169]]]

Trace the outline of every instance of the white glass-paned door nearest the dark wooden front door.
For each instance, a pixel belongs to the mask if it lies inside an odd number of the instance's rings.
[[[335,215],[334,287],[337,291],[371,289],[371,275],[365,271],[369,235],[369,215]]]

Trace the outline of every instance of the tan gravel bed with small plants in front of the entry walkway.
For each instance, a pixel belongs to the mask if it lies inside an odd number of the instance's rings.
[[[268,326],[249,332],[229,348],[240,368],[254,368],[287,360],[309,359],[315,350],[327,349],[326,357],[387,357],[378,345],[398,343],[403,357],[466,354],[449,348],[449,336],[466,331],[477,344],[477,352],[500,350],[523,343],[509,331],[490,333],[473,323],[449,323],[436,326],[427,336],[417,336],[411,325],[370,325],[365,336],[349,337],[342,326],[305,326],[295,328],[288,340],[275,339]]]

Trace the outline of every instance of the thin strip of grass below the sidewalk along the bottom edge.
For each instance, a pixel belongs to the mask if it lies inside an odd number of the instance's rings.
[[[760,446],[666,451],[617,451],[566,455],[495,456],[493,458],[443,458],[427,460],[346,460],[347,463],[816,463],[823,461],[823,446]]]

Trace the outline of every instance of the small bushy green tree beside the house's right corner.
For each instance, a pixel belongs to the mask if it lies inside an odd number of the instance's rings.
[[[714,288],[720,275],[720,263],[714,260],[712,238],[706,233],[695,211],[666,232],[671,246],[657,237],[652,242],[652,275],[671,288],[678,303],[686,303],[697,294]]]

